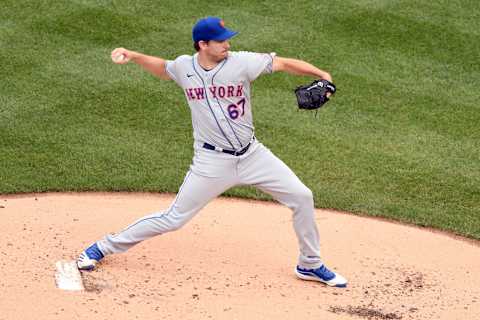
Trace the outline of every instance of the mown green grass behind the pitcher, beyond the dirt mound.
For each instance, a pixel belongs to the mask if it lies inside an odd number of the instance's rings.
[[[479,12],[460,0],[4,0],[0,193],[176,192],[192,157],[183,94],[109,54],[191,53],[192,24],[219,15],[240,31],[232,49],[332,73],[338,94],[317,118],[295,106],[307,78],[253,90],[257,136],[316,206],[480,239]]]

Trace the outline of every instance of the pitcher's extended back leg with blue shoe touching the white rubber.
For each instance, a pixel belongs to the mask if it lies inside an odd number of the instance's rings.
[[[196,149],[190,171],[168,210],[143,217],[116,235],[107,235],[83,251],[79,269],[92,270],[105,255],[124,252],[141,241],[177,230],[210,200],[238,182],[236,161],[210,150]]]

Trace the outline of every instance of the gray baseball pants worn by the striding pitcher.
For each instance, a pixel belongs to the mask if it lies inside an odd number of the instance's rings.
[[[120,233],[105,236],[97,245],[104,255],[121,253],[141,241],[177,230],[212,199],[236,185],[254,186],[292,209],[300,247],[298,264],[309,269],[322,265],[312,192],[257,140],[242,156],[195,148],[190,170],[168,210],[145,216]]]

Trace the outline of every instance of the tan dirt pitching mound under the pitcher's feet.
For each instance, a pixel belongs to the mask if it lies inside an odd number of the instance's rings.
[[[0,196],[0,320],[480,318],[478,243],[318,210],[323,258],[349,280],[329,288],[295,278],[289,209],[222,198],[183,229],[82,273],[85,291],[56,287],[57,261],[172,200]]]

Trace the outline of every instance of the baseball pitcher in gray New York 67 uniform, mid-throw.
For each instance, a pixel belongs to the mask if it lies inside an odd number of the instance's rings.
[[[197,52],[174,60],[124,48],[112,51],[115,63],[136,63],[182,88],[192,115],[194,156],[169,208],[95,242],[80,254],[78,268],[92,270],[109,254],[124,252],[141,241],[177,230],[227,189],[251,185],[293,211],[293,227],[300,249],[295,274],[304,280],[346,287],[347,280],[329,270],[320,258],[312,192],[258,141],[252,119],[250,86],[259,76],[283,71],[320,78],[318,81],[325,85],[333,85],[330,74],[307,62],[281,58],[275,53],[230,51],[229,39],[237,32],[226,28],[217,17],[199,20],[192,33]],[[314,86],[323,87],[320,82]],[[307,89],[305,93],[310,94]]]

